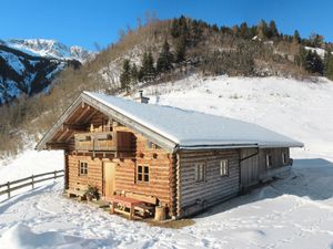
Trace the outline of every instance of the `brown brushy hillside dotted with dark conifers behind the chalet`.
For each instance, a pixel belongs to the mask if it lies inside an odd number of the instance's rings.
[[[119,42],[80,69],[62,71],[47,95],[2,106],[0,136],[8,143],[0,144],[0,155],[16,155],[27,136],[38,138],[84,90],[130,94],[139,87],[191,75],[281,76],[315,82],[330,72],[326,69],[333,65],[332,59],[324,63],[305,46],[332,49],[319,35],[303,39],[297,32],[282,34],[273,21],[270,25],[262,21],[231,28],[184,17],[150,21],[123,32]]]

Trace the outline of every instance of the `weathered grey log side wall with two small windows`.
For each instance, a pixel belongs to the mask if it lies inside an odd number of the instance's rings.
[[[228,159],[229,174],[221,176],[221,160]],[[190,216],[239,194],[238,149],[181,152],[179,154],[178,216]],[[195,164],[205,165],[204,180],[195,180]]]

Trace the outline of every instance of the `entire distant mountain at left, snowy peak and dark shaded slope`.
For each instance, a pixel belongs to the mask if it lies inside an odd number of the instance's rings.
[[[0,42],[0,105],[26,94],[48,90],[53,76],[73,65],[79,68],[94,53],[54,40],[30,39]]]

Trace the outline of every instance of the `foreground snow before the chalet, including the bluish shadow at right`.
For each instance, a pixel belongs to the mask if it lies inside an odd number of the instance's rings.
[[[333,163],[295,160],[293,174],[173,230],[62,197],[62,181],[0,205],[6,248],[330,248]],[[325,189],[323,191],[323,189]],[[52,241],[52,242],[51,242]]]

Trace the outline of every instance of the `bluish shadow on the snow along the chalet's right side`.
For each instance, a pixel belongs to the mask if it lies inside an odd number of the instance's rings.
[[[203,218],[230,209],[275,198],[282,195],[309,197],[312,200],[326,200],[333,197],[333,163],[323,158],[294,159],[291,174],[268,184],[254,187],[250,193],[209,208],[198,216]],[[333,206],[332,206],[333,208]]]

